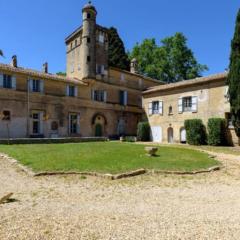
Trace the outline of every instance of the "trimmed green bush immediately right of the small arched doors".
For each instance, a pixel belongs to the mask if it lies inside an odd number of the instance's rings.
[[[185,120],[187,143],[190,145],[203,145],[206,143],[206,129],[201,119]]]

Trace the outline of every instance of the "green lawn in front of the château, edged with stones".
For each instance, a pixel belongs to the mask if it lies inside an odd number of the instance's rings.
[[[119,142],[0,145],[0,152],[19,160],[35,172],[122,173],[139,168],[197,170],[219,164],[207,154],[192,149],[160,146],[157,157],[148,157],[143,145]]]

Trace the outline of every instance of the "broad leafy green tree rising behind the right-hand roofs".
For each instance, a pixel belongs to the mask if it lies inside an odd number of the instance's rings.
[[[163,39],[160,46],[155,39],[145,39],[136,44],[130,57],[138,60],[141,74],[167,83],[200,77],[208,70],[197,62],[182,33]]]

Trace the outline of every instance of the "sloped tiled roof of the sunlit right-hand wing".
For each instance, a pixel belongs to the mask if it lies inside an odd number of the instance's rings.
[[[165,84],[165,85],[159,85],[155,87],[151,87],[147,89],[146,91],[143,92],[143,94],[149,94],[149,93],[154,93],[154,92],[159,92],[159,91],[164,91],[164,90],[170,90],[170,89],[177,89],[177,88],[183,88],[183,87],[188,87],[192,85],[198,85],[198,84],[203,84],[203,83],[208,83],[208,82],[213,82],[221,79],[226,79],[228,76],[228,72],[224,73],[218,73],[206,77],[199,77],[191,80],[184,80],[181,82],[176,82],[176,83],[170,83],[170,84]]]

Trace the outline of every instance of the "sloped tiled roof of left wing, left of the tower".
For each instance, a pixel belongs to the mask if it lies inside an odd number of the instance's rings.
[[[81,85],[87,85],[84,81],[78,78],[69,78],[64,76],[59,76],[56,74],[51,73],[44,73],[33,69],[28,68],[22,68],[22,67],[13,67],[9,64],[2,64],[0,63],[0,71],[10,71],[12,73],[22,73],[25,75],[28,75],[30,77],[36,77],[36,78],[44,78],[49,80],[57,80],[61,82],[68,82],[68,83],[74,83],[74,84],[81,84]]]

